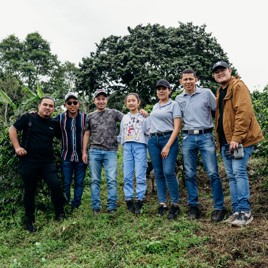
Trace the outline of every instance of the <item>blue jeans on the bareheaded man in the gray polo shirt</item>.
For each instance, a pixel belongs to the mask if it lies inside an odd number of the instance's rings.
[[[183,134],[181,140],[183,163],[186,173],[186,187],[188,191],[188,206],[199,207],[196,183],[197,154],[201,154],[204,167],[210,179],[214,209],[224,208],[222,181],[219,176],[216,158],[216,146],[212,133],[199,135]]]

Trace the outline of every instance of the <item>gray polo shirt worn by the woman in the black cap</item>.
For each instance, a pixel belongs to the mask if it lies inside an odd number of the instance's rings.
[[[181,111],[177,102],[169,99],[160,107],[160,102],[154,105],[150,113],[151,133],[168,132],[174,130],[173,119],[180,117]]]

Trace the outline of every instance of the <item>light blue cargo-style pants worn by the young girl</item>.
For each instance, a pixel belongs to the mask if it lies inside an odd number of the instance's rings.
[[[128,141],[124,143],[124,193],[125,199],[134,197],[134,167],[136,176],[136,198],[143,200],[146,192],[147,146],[144,143]]]

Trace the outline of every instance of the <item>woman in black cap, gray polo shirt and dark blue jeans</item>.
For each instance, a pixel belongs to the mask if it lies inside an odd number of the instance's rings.
[[[154,105],[150,113],[151,136],[148,141],[148,152],[155,172],[160,203],[156,216],[163,216],[169,210],[166,204],[166,186],[168,186],[172,207],[167,218],[175,219],[180,212],[175,161],[179,152],[178,134],[182,115],[178,103],[170,99],[169,82],[161,79],[155,88],[160,101]]]

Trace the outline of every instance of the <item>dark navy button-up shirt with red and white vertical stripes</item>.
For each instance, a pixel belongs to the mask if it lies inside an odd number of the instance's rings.
[[[82,143],[85,132],[87,114],[77,110],[77,116],[72,118],[65,113],[58,114],[55,119],[61,128],[61,159],[65,161],[82,162]]]

